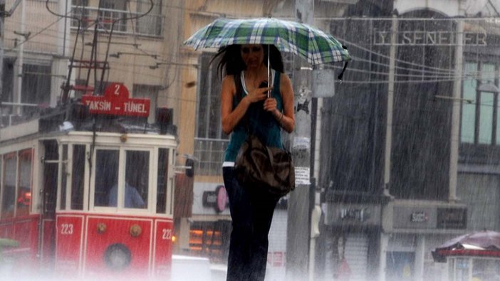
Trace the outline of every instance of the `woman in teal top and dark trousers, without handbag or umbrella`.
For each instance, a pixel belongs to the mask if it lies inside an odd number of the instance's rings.
[[[222,129],[226,134],[231,133],[223,164],[233,226],[227,280],[264,280],[269,228],[278,198],[259,186],[240,183],[234,173],[234,161],[249,133],[269,147],[283,148],[281,129],[290,133],[295,126],[293,89],[283,73],[281,53],[275,46],[230,45],[222,48],[215,58],[220,58],[220,75],[225,75],[221,93]]]

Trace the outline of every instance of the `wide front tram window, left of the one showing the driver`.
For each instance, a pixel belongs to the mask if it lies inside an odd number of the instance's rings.
[[[118,150],[98,149],[95,153],[94,206],[116,206],[108,204],[109,198],[118,195],[112,187],[118,184]],[[112,194],[113,193],[113,194]]]

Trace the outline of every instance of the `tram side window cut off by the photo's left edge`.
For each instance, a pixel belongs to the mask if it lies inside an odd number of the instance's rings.
[[[14,216],[14,202],[16,201],[16,163],[15,152],[4,155],[4,179],[1,196],[1,218]]]

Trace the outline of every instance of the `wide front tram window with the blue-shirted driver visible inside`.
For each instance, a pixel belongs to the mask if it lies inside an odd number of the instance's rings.
[[[147,208],[150,153],[127,150],[125,159],[125,208]]]

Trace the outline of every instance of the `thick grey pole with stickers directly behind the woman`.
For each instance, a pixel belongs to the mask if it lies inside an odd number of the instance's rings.
[[[296,21],[312,25],[314,1],[295,1]],[[291,139],[293,164],[296,167],[296,188],[288,198],[286,235],[286,280],[308,280],[309,240],[311,239],[311,208],[314,191],[311,185],[311,81],[312,68],[296,58],[293,68],[295,91],[295,132]]]

